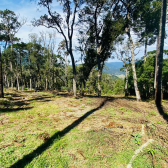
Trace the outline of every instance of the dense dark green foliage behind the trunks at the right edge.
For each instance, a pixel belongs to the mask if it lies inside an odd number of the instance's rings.
[[[166,50],[164,51],[167,54]],[[155,76],[155,56],[156,50],[148,52],[146,62],[139,60],[136,63],[138,88],[142,98],[150,98],[154,96],[154,76]],[[168,59],[163,60],[163,72],[162,72],[162,90],[163,97],[168,97]],[[128,76],[128,92],[130,95],[134,95],[134,84],[132,70],[130,70]]]

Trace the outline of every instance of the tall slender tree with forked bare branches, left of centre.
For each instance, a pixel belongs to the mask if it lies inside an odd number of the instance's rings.
[[[65,18],[61,16],[56,11],[52,11],[52,2],[53,0],[40,0],[39,5],[47,8],[48,15],[45,14],[44,16],[41,16],[40,19],[34,21],[35,26],[43,25],[48,28],[54,28],[60,33],[66,43],[66,49],[71,57],[72,61],[72,67],[73,67],[73,93],[74,96],[76,96],[76,67],[75,67],[75,59],[73,55],[73,33],[74,33],[74,27],[75,27],[75,19],[77,14],[77,9],[82,5],[82,0],[58,0],[60,4],[63,6],[63,12],[65,14]],[[65,21],[65,22],[64,22]],[[65,23],[65,24],[64,24]],[[66,28],[66,30],[65,30]],[[67,31],[67,36],[66,36]]]

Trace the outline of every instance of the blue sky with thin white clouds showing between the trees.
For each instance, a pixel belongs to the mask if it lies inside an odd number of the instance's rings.
[[[21,27],[19,32],[16,34],[16,37],[19,37],[21,41],[23,42],[29,42],[29,34],[31,33],[37,33],[39,32],[50,32],[53,31],[53,29],[47,29],[43,26],[39,27],[33,27],[31,21],[35,18],[40,18],[41,15],[47,14],[47,11],[45,8],[41,8],[37,5],[36,0],[1,0],[1,8],[0,10],[9,9],[11,11],[14,11],[16,15],[19,15],[19,19],[22,20],[23,18],[27,19],[27,22],[25,25]],[[62,9],[59,6],[58,2],[53,4],[53,8],[59,12],[62,13]],[[60,41],[62,41],[62,35],[57,33],[56,35],[56,46],[59,44]],[[134,39],[135,40],[135,39]],[[77,32],[74,32],[73,36],[73,46],[77,45]],[[168,50],[168,40],[165,41],[165,49]],[[148,51],[156,50],[156,43],[148,46]],[[140,59],[144,55],[144,47],[141,47],[135,52],[139,52],[139,54],[136,56],[137,59]],[[74,56],[75,59],[79,59],[80,53],[75,52]],[[118,59],[109,59],[108,62],[118,62]]]

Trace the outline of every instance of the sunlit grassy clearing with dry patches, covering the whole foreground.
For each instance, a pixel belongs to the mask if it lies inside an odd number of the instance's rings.
[[[125,168],[153,138],[132,166],[166,168],[166,127],[152,101],[8,91],[0,100],[0,167]]]

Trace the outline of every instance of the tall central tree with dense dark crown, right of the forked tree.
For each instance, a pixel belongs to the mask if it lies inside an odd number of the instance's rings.
[[[86,23],[88,51],[91,57],[95,52],[98,69],[98,96],[101,96],[101,76],[105,60],[112,53],[113,42],[123,32],[123,22],[119,14],[119,1],[89,0],[87,6],[80,12],[80,22]],[[93,52],[93,50],[95,50]],[[88,53],[89,53],[88,52]],[[89,57],[86,57],[90,59]],[[94,63],[93,63],[93,66]],[[92,67],[93,67],[92,66]],[[90,68],[90,70],[92,69]]]

